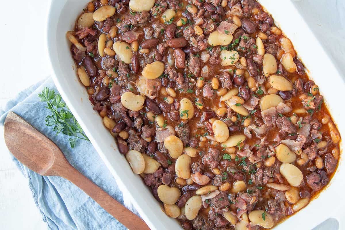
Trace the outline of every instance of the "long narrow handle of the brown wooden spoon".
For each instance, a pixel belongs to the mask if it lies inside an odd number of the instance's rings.
[[[121,203],[109,196],[108,193],[86,178],[77,169],[73,168],[71,165],[69,166],[70,167],[66,168],[64,172],[60,172],[59,176],[78,186],[129,230],[150,230],[147,224],[136,214],[129,211]]]

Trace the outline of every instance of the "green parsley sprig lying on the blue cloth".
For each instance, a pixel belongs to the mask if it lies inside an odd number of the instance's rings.
[[[71,148],[76,146],[77,139],[90,141],[89,138],[83,133],[78,121],[73,116],[71,111],[66,106],[66,103],[62,101],[60,94],[56,94],[54,90],[50,90],[47,87],[43,89],[38,97],[43,102],[47,102],[47,109],[52,114],[46,117],[46,126],[54,126],[53,131],[58,135],[62,132],[65,135],[70,136],[68,139]]]

